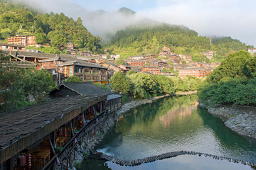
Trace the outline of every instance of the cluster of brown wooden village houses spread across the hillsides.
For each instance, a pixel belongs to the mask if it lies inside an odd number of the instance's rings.
[[[55,81],[60,83],[71,76],[78,76],[82,81],[94,81],[108,84],[114,72],[121,71],[126,74],[133,69],[146,74],[162,74],[168,77],[194,76],[206,77],[220,62],[200,63],[192,62],[191,55],[176,54],[170,47],[163,47],[159,54],[130,56],[124,60],[126,64],[116,65],[114,61],[120,55],[92,55],[92,52],[79,51],[73,43],[63,46],[68,49],[67,54],[53,55],[26,47],[38,47],[34,36],[12,36],[8,43],[0,43],[0,50],[4,50],[16,62],[17,67],[48,69],[53,74]],[[209,59],[215,55],[214,51],[203,52]]]

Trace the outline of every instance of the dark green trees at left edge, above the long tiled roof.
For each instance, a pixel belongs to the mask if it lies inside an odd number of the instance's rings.
[[[9,70],[9,67],[13,69]],[[47,92],[55,89],[50,73],[36,69],[16,69],[9,56],[0,50],[0,110],[23,108],[47,99]]]

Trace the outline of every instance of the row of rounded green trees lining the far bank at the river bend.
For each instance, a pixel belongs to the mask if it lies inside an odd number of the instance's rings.
[[[176,91],[194,91],[201,84],[201,79],[196,77],[178,79],[177,77],[136,73],[132,70],[127,72],[126,77],[122,72],[117,73],[114,74],[114,78],[112,77],[113,79],[110,81],[112,89],[119,92],[125,86],[125,94],[129,94],[134,98],[144,99],[161,94],[174,94]],[[127,84],[129,84],[129,88]],[[124,102],[125,98],[129,99],[125,96],[122,102]]]

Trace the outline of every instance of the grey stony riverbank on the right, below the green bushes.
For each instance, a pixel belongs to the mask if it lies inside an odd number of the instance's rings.
[[[221,118],[224,124],[245,137],[256,140],[256,108],[252,106],[200,106],[206,108],[212,115]]]

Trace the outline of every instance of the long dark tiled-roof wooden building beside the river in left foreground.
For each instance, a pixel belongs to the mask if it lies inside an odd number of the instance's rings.
[[[122,107],[122,96],[90,83],[63,84],[50,94],[55,99],[1,114],[0,169],[63,169],[64,162],[68,169],[78,142]]]

